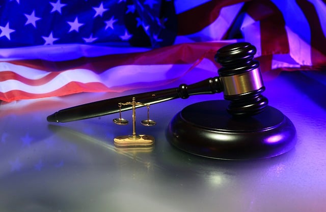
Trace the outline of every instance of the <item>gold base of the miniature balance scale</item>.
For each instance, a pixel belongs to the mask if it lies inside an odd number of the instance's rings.
[[[148,148],[153,146],[154,140],[151,135],[138,135],[137,139],[122,135],[114,138],[114,145],[118,148]]]

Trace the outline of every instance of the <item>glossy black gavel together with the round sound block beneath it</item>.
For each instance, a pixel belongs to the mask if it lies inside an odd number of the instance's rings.
[[[121,110],[135,109],[132,106],[118,108],[119,103],[131,99],[149,105],[223,92],[225,100],[194,103],[178,112],[168,125],[167,140],[187,153],[208,158],[248,160],[278,156],[293,148],[296,131],[288,117],[267,105],[255,53],[256,48],[250,43],[229,44],[220,48],[214,57],[222,66],[219,76],[195,84],[70,107],[49,115],[47,120],[71,122],[121,114]]]

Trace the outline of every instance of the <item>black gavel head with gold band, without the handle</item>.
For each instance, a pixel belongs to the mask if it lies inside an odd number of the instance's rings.
[[[215,54],[215,61],[222,66],[219,75],[224,99],[231,101],[227,110],[232,115],[257,114],[268,104],[261,95],[265,87],[255,53],[255,46],[241,42],[224,46]]]

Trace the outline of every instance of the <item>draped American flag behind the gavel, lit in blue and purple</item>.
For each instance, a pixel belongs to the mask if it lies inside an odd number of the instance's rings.
[[[0,100],[167,84],[227,43],[257,47],[264,77],[326,67],[324,0],[7,0]]]

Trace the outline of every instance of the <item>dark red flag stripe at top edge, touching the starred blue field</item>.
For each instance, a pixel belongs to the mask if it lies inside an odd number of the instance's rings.
[[[249,0],[212,0],[178,14],[178,35],[189,35],[201,31],[219,17],[221,9]]]

